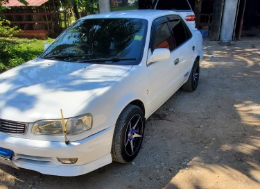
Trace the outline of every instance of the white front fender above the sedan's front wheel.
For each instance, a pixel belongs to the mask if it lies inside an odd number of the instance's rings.
[[[92,134],[114,126],[122,110],[131,101],[138,99],[144,105],[148,103],[149,84],[145,68],[141,65],[132,67],[78,107],[76,114],[92,114]]]

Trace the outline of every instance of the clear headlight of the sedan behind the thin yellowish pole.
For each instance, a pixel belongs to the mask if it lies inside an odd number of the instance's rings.
[[[92,115],[87,113],[78,117],[64,119],[67,135],[76,135],[92,128]],[[41,120],[33,124],[33,134],[63,135],[62,120]]]

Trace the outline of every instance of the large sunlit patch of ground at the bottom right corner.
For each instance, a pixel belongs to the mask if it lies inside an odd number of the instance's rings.
[[[189,176],[187,173],[189,172]],[[252,171],[254,172],[254,171]],[[258,181],[257,181],[258,179]],[[166,188],[257,188],[260,178],[251,181],[248,175],[226,165],[205,164],[181,170]]]

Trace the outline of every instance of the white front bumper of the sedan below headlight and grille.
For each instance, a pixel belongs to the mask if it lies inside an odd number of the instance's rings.
[[[112,163],[111,145],[114,126],[83,140],[50,142],[15,138],[0,134],[0,147],[15,152],[12,163],[42,174],[77,176]],[[62,164],[57,158],[78,158],[75,164]]]

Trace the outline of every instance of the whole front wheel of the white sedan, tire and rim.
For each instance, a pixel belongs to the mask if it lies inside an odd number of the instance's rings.
[[[112,159],[119,163],[132,161],[141,148],[144,138],[144,113],[138,106],[125,107],[116,122],[112,142]]]

